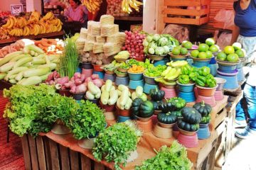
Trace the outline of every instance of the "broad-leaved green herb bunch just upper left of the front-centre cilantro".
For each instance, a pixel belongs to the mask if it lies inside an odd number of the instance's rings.
[[[103,111],[95,103],[81,101],[80,108],[72,114],[68,127],[76,139],[95,137],[107,125]]]

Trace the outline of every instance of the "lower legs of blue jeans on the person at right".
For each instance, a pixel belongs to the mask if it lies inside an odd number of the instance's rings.
[[[247,111],[250,118],[250,127],[256,128],[256,87],[245,84],[243,89],[244,98],[247,102]],[[244,108],[242,108],[241,101],[236,106],[236,120],[246,120]]]

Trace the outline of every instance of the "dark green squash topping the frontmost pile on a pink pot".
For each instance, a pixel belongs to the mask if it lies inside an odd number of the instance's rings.
[[[183,120],[191,124],[200,123],[202,119],[201,114],[195,108],[185,107],[181,110],[181,115]]]

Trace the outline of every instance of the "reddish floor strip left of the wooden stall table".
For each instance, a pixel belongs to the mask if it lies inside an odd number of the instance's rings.
[[[1,94],[0,94],[1,97]],[[0,102],[3,102],[2,100]],[[21,140],[10,132],[9,143],[6,142],[7,122],[2,117],[3,108],[0,107],[0,169],[23,170],[24,161],[21,148]]]

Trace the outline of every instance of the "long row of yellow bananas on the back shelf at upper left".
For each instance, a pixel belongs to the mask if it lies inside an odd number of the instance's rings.
[[[6,35],[20,37],[58,32],[62,29],[62,24],[60,19],[55,18],[52,12],[48,12],[46,16],[41,17],[40,13],[33,11],[28,20],[22,16],[18,18],[9,16],[7,23],[1,28],[7,30]]]

